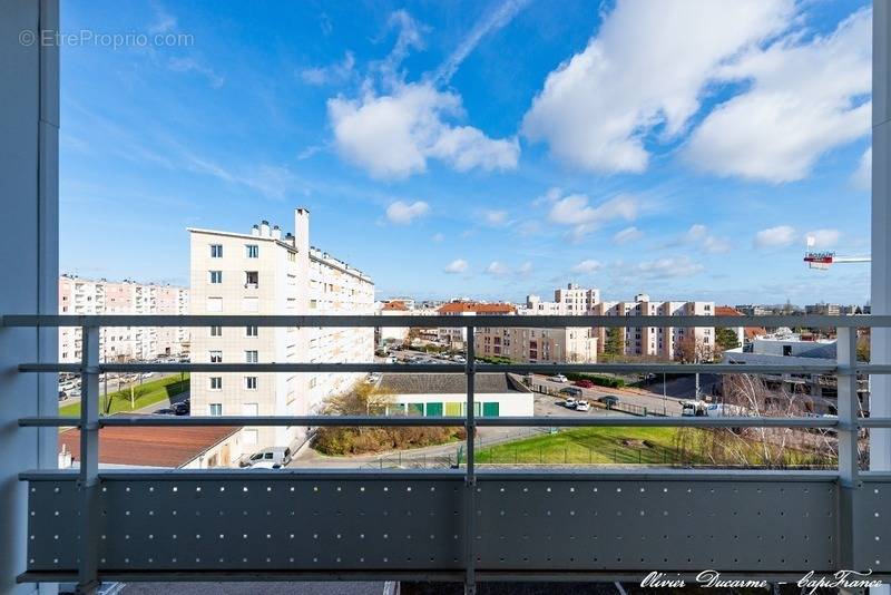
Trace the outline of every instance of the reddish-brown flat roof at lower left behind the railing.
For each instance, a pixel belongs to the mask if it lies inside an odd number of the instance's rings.
[[[134,467],[182,467],[215,447],[241,428],[237,427],[123,427],[110,426],[99,432],[99,462]],[[59,433],[75,460],[80,460],[80,430]]]

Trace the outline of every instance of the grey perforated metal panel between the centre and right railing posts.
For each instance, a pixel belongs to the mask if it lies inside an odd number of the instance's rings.
[[[832,568],[831,482],[487,481],[480,570]]]

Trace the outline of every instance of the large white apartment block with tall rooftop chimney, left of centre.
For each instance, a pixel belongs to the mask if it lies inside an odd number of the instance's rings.
[[[295,234],[263,221],[251,233],[189,228],[193,314],[373,314],[374,284],[361,271],[310,246],[310,212]],[[196,329],[193,362],[371,362],[374,330],[339,328]],[[347,390],[361,373],[195,373],[192,411],[209,416],[302,416]],[[245,450],[290,446],[306,428],[242,429]]]

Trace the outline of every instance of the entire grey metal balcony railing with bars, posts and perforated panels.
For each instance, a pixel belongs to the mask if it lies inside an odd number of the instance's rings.
[[[2,326],[80,326],[80,363],[22,362],[20,372],[76,372],[79,418],[19,425],[78,427],[77,471],[36,470],[29,484],[23,582],[177,579],[640,579],[652,570],[689,577],[797,579],[839,569],[891,577],[891,474],[862,471],[856,375],[891,365],[856,361],[856,329],[891,316],[647,316],[647,326],[835,328],[838,358],[813,364],[464,364],[104,363],[101,326],[454,326],[456,316],[7,315]],[[626,326],[623,316],[470,316],[476,326]],[[2,332],[0,326],[0,332]],[[438,372],[467,378],[466,417],[99,417],[104,372]],[[551,427],[831,428],[838,468],[772,470],[478,470],[479,427],[541,426],[536,418],[477,418],[479,372],[820,373],[838,378],[838,418],[548,417]],[[9,396],[6,396],[9,397]],[[872,398],[884,399],[885,394]],[[467,429],[466,464],[444,471],[99,470],[98,438],[114,426],[456,426]]]

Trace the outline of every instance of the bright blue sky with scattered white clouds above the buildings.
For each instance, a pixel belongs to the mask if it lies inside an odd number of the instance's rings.
[[[62,271],[306,206],[381,298],[866,300],[869,2],[555,7],[63,2]]]

